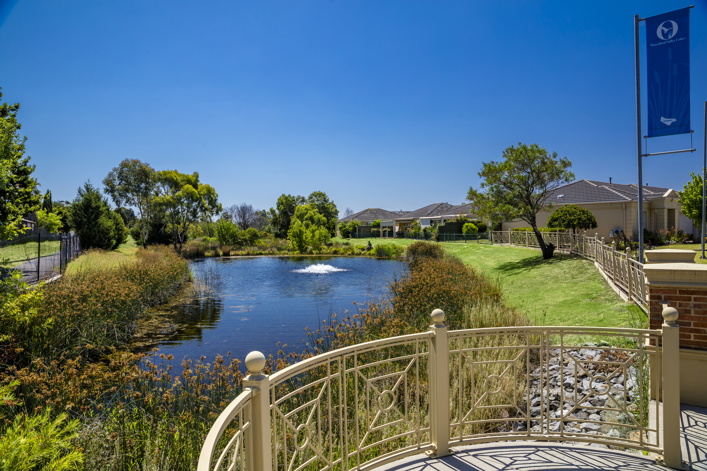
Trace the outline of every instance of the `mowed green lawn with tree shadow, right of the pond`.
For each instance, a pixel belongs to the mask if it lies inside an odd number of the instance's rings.
[[[392,243],[409,239],[339,239],[350,244]],[[620,327],[633,324],[638,307],[624,302],[602,278],[594,263],[578,256],[469,242],[441,242],[450,254],[481,270],[503,286],[514,306],[525,309],[538,325]]]

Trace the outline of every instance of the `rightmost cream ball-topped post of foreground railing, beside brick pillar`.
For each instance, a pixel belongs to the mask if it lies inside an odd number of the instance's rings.
[[[680,327],[677,309],[663,301],[662,310],[662,462],[682,469],[680,450]],[[656,458],[660,460],[660,457]]]

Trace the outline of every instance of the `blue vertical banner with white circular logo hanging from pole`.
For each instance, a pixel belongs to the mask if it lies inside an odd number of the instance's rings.
[[[648,137],[690,132],[690,8],[645,18]]]

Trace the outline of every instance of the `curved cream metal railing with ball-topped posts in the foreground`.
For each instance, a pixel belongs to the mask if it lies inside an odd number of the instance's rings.
[[[243,393],[216,419],[197,471],[366,471],[515,440],[602,443],[680,467],[677,311],[663,316],[661,330],[448,332],[436,309],[426,332],[319,354],[270,376],[264,355],[251,352]],[[588,335],[607,342],[583,357]],[[662,390],[662,408],[647,400],[651,386]],[[578,412],[586,407],[598,414]]]

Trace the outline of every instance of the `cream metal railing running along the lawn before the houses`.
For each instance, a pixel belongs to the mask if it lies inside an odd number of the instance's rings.
[[[607,276],[626,299],[636,302],[648,312],[648,292],[645,287],[643,263],[626,253],[615,249],[616,243],[604,244],[603,239],[570,232],[543,232],[545,244],[554,244],[555,250],[588,258]],[[539,248],[533,232],[493,232],[493,244],[510,244],[521,247]]]

